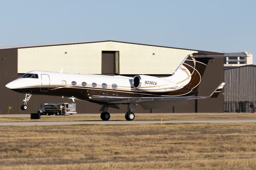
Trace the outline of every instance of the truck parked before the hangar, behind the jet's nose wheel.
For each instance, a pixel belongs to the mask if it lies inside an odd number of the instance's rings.
[[[41,115],[74,115],[76,114],[76,103],[44,103],[38,109]]]

